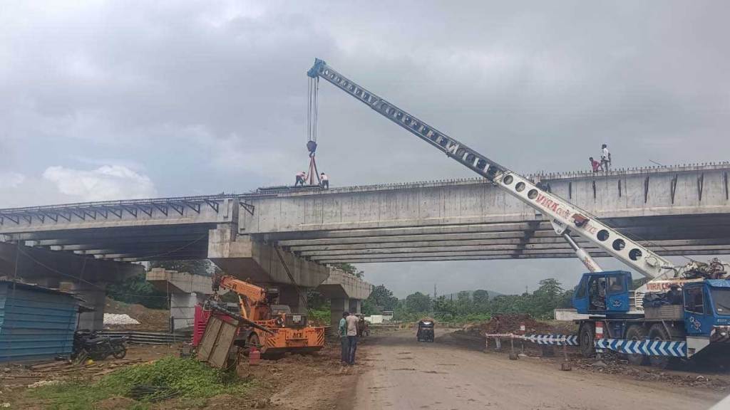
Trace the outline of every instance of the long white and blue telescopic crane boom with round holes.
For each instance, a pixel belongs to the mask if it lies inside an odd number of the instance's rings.
[[[649,278],[657,278],[674,272],[674,264],[669,260],[623,236],[596,217],[583,211],[583,209],[570,204],[553,193],[542,190],[529,179],[499,165],[496,161],[472,150],[472,148],[467,147],[457,139],[447,136],[404,109],[400,109],[391,102],[366,90],[361,85],[332,69],[325,61],[315,59],[315,64],[307,71],[307,75],[312,78],[321,77],[327,80],[340,90],[367,104],[375,112],[444,152],[449,158],[458,161],[458,163],[485,177],[493,185],[501,187],[510,195],[533,207],[540,214],[548,217],[553,226],[556,226],[556,231],[560,228],[561,231],[569,230],[583,236],[583,238],[591,241],[609,255],[618,258]]]

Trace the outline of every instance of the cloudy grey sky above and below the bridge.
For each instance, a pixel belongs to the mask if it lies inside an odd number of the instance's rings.
[[[602,143],[618,168],[728,160],[728,15],[727,1],[4,1],[0,207],[291,183],[315,57],[523,173],[586,169]],[[325,82],[318,144],[332,186],[472,177]],[[583,266],[361,269],[404,296],[572,284]]]

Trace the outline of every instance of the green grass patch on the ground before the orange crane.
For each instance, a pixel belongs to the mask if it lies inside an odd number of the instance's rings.
[[[94,403],[106,398],[130,397],[140,385],[164,386],[191,404],[204,403],[204,399],[215,395],[240,395],[250,387],[250,383],[242,382],[233,373],[210,368],[194,359],[169,356],[153,363],[120,368],[91,384],[71,380],[30,390],[28,395],[46,401],[51,410],[93,410]],[[128,408],[147,409],[149,399],[136,401]]]

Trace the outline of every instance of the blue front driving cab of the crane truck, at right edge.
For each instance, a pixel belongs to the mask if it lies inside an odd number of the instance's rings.
[[[688,336],[730,339],[730,280],[706,279],[683,286]]]

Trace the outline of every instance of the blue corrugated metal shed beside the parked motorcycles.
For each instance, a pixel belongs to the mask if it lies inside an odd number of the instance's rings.
[[[70,293],[0,280],[0,362],[70,355],[79,304]]]

